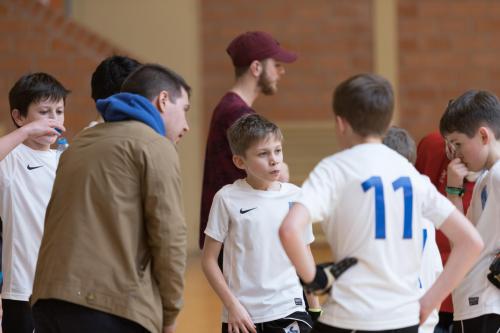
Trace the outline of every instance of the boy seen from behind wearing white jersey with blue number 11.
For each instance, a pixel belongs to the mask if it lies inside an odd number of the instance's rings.
[[[323,221],[334,261],[358,259],[335,282],[313,332],[417,332],[471,267],[481,239],[427,177],[382,144],[393,111],[387,80],[361,74],[344,81],[335,90],[333,110],[344,150],[316,166],[280,228],[283,247],[305,282],[314,283],[321,272],[300,237],[312,221]],[[420,298],[415,286],[424,218],[455,246]]]

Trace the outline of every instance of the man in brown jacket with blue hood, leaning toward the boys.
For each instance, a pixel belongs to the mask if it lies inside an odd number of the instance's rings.
[[[175,143],[190,90],[139,67],[97,101],[105,122],[61,156],[31,298],[37,333],[174,331],[186,263]]]

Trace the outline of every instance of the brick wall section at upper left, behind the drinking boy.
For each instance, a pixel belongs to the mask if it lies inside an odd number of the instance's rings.
[[[72,93],[66,103],[67,136],[96,117],[90,77],[97,64],[120,50],[34,0],[0,1],[0,130],[13,129],[8,92],[28,72],[47,72]]]

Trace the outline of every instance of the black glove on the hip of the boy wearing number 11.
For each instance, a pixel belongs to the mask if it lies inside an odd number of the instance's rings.
[[[314,279],[310,283],[304,283],[300,280],[300,283],[306,293],[312,293],[316,296],[326,294],[332,288],[333,281],[357,262],[356,258],[344,258],[338,263],[328,262],[316,265]]]

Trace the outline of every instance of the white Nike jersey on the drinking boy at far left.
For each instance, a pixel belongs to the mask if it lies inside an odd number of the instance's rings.
[[[59,154],[24,144],[0,161],[2,298],[28,301]]]

